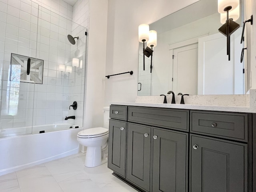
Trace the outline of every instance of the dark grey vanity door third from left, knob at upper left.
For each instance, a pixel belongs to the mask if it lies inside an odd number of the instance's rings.
[[[153,192],[186,192],[188,134],[153,128],[153,136]]]

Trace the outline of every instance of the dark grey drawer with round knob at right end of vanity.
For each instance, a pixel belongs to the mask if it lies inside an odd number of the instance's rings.
[[[247,122],[247,114],[190,111],[192,133],[204,133],[247,142]]]

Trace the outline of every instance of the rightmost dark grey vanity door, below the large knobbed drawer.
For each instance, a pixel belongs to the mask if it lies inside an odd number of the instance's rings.
[[[247,192],[247,145],[191,135],[191,192]]]

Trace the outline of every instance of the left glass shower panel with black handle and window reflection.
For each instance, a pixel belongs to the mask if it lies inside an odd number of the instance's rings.
[[[0,2],[0,138],[32,133],[38,4]],[[30,70],[29,70],[30,69]],[[30,73],[31,71],[31,73]]]

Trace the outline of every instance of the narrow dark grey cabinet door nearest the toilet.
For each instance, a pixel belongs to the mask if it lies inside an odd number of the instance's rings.
[[[109,121],[108,168],[125,177],[126,122]]]

